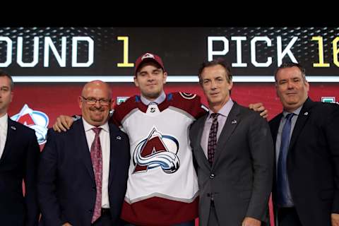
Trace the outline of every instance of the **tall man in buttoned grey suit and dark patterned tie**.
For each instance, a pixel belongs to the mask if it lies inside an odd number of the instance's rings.
[[[225,61],[204,63],[199,81],[209,105],[209,113],[190,131],[200,191],[200,225],[261,225],[268,220],[273,180],[268,123],[232,101],[232,75]]]

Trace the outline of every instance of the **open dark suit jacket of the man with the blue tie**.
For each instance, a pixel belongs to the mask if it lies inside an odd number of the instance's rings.
[[[270,121],[274,142],[282,116]],[[331,225],[331,213],[339,213],[339,105],[304,102],[292,132],[287,174],[302,225]]]

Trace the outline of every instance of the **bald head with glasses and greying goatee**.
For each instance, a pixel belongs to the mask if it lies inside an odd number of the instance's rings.
[[[112,108],[112,90],[103,81],[95,80],[83,86],[79,96],[83,119],[93,126],[102,126],[109,118]]]

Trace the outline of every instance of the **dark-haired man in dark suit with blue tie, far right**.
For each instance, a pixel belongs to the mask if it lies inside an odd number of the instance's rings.
[[[275,88],[283,104],[283,112],[270,121],[276,221],[279,226],[339,226],[339,106],[308,97],[300,64],[282,64]]]

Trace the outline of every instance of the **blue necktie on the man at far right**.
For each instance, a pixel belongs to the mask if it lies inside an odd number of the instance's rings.
[[[280,152],[278,157],[278,171],[277,171],[277,187],[278,187],[278,204],[280,206],[287,206],[288,201],[288,181],[286,170],[286,159],[288,148],[290,146],[290,132],[291,132],[291,119],[293,113],[286,115],[285,125],[283,127],[283,133],[281,133]]]

